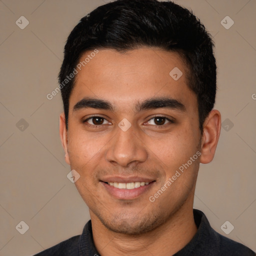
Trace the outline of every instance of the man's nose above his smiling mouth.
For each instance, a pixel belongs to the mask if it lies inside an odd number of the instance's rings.
[[[116,127],[116,133],[108,142],[106,160],[112,164],[128,167],[147,159],[146,147],[138,132],[131,126],[126,131]]]

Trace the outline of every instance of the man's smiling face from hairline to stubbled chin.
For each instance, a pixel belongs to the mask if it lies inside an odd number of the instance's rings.
[[[65,158],[92,220],[143,233],[192,204],[201,133],[186,74],[177,53],[147,47],[99,49],[76,74]]]

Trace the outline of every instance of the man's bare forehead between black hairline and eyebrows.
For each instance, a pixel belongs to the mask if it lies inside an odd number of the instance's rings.
[[[70,107],[85,96],[125,105],[154,96],[170,96],[181,102],[195,100],[178,53],[148,47],[125,53],[113,49],[92,52],[86,51],[80,58],[83,64],[76,74]]]

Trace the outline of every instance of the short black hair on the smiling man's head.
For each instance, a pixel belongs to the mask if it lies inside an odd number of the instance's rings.
[[[196,94],[199,128],[212,110],[216,95],[216,63],[211,35],[192,11],[171,1],[117,0],[82,17],[69,34],[58,75],[66,127],[73,72],[81,55],[100,48],[123,52],[141,46],[177,52],[187,66],[187,85]],[[110,60],[111,61],[111,60]]]

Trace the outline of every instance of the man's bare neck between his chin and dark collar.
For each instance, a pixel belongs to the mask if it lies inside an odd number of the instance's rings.
[[[163,225],[138,235],[127,235],[107,229],[91,214],[93,240],[101,256],[172,255],[195,235],[192,204],[184,204]]]

